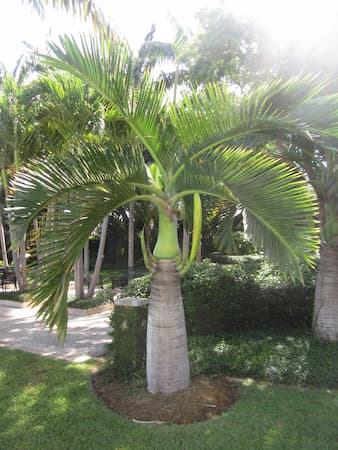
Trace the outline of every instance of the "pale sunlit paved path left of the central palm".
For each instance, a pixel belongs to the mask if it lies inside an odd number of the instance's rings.
[[[39,353],[53,358],[81,362],[105,352],[111,342],[110,312],[105,311],[89,316],[70,313],[68,333],[64,347],[56,339],[56,332],[48,329],[35,319],[34,309],[17,307],[15,302],[0,302],[0,346],[17,348]]]

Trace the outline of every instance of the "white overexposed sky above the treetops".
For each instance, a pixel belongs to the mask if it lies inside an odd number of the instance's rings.
[[[332,30],[338,23],[338,0],[96,0],[113,26],[136,50],[151,24],[156,24],[155,38],[170,40],[173,36],[168,21],[170,12],[180,23],[194,29],[194,15],[205,3],[209,8],[221,6],[227,12],[251,19],[265,27],[276,44],[290,41],[295,45],[320,51],[332,41]],[[12,70],[24,52],[23,41],[40,50],[51,36],[76,31],[81,26],[74,19],[52,12],[42,22],[21,0],[0,0],[0,61]],[[332,42],[332,45],[334,43]],[[335,42],[337,48],[337,38]]]

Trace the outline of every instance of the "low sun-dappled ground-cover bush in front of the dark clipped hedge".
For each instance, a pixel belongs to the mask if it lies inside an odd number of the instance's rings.
[[[309,334],[275,333],[189,338],[193,375],[227,373],[283,384],[338,387],[338,344]]]

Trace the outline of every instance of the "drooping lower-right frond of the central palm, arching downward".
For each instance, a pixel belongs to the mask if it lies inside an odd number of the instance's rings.
[[[318,250],[314,194],[285,163],[263,153],[218,148],[187,164],[175,187],[181,195],[200,192],[242,205],[253,243],[291,276],[301,279],[299,263],[311,264]]]

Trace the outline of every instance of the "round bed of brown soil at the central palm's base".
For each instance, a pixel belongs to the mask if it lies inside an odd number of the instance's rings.
[[[138,423],[201,422],[222,414],[239,397],[236,383],[223,375],[195,378],[188,389],[170,395],[108,381],[102,373],[93,376],[93,388],[108,408]]]

